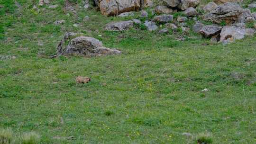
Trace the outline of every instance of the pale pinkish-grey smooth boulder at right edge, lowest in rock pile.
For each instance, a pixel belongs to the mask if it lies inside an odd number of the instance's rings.
[[[252,28],[225,26],[221,30],[219,41],[229,43],[245,36],[252,36],[254,33],[255,30]]]

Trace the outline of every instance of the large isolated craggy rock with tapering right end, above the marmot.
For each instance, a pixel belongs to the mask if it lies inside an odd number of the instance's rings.
[[[57,55],[101,56],[121,54],[121,51],[104,47],[98,39],[79,36],[82,34],[66,33],[57,47]],[[68,45],[65,45],[68,44]]]

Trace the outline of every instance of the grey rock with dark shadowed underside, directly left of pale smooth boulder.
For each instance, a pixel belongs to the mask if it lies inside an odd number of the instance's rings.
[[[210,36],[218,35],[220,31],[221,31],[221,27],[218,27],[218,26],[204,26],[201,28],[199,32],[203,37],[210,37]]]

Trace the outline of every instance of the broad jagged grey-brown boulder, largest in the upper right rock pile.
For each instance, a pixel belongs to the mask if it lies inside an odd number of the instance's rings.
[[[214,23],[221,23],[223,21],[230,25],[234,23],[239,15],[243,12],[243,9],[237,3],[227,2],[223,5],[218,6],[210,13],[203,16],[203,20],[211,21]]]

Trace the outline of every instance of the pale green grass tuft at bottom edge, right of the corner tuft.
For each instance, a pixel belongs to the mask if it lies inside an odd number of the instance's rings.
[[[25,133],[20,137],[20,144],[38,144],[40,135],[36,132]]]

